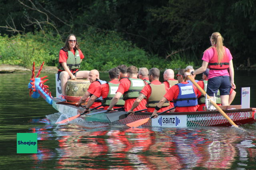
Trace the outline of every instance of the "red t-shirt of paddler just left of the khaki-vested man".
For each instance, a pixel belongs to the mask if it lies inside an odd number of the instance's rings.
[[[124,92],[127,92],[130,88],[131,82],[128,78],[123,78],[122,82],[119,84],[118,89],[116,92],[120,92],[124,94]],[[124,110],[129,111],[132,108],[132,105],[136,99],[128,99],[124,102]],[[146,99],[143,99],[139,106],[134,109],[134,111],[146,109]]]

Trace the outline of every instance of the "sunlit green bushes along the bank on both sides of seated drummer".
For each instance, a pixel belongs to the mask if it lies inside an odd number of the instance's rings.
[[[60,48],[64,45],[60,37],[42,31],[34,34],[16,35],[11,38],[0,36],[0,64],[18,64],[31,67],[35,61],[39,66],[44,61],[48,66],[57,66]],[[97,69],[108,71],[120,64],[139,67],[185,68],[191,57],[185,53],[175,54],[167,60],[157,55],[149,55],[144,50],[126,41],[115,31],[103,31],[90,27],[77,37],[85,58],[80,70]]]

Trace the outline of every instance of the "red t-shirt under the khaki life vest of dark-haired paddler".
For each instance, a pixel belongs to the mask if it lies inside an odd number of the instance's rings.
[[[151,84],[160,85],[160,84],[162,84],[162,83],[161,83],[159,80],[154,80],[154,81],[151,82]],[[165,90],[166,90],[166,92],[168,91],[168,89],[169,89],[169,85],[168,85],[168,86],[165,85]],[[147,84],[146,86],[144,86],[144,88],[141,90],[140,93],[142,93],[142,94],[144,94],[144,95],[146,96],[146,101],[148,102],[148,98],[150,98],[151,92],[152,92],[151,87],[150,87],[149,84]],[[148,107],[148,108],[147,108],[147,111],[148,111],[148,112],[153,112],[154,109],[155,109],[154,107]],[[165,110],[167,110],[167,109],[169,109],[169,106],[168,106],[168,107],[162,107],[162,108],[161,108],[160,110],[158,110],[157,112],[162,112],[162,111],[165,111]]]

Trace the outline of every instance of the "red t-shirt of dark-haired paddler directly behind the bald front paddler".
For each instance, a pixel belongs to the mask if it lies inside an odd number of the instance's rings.
[[[110,83],[119,84],[120,82],[118,80],[111,80]],[[98,98],[102,96],[102,98],[105,99],[108,97],[108,92],[109,92],[109,85],[105,83],[105,84],[102,84],[101,86],[98,86],[93,95],[97,96]],[[107,110],[108,107],[109,106],[104,106],[104,110]],[[119,107],[114,106],[113,108],[115,109]]]

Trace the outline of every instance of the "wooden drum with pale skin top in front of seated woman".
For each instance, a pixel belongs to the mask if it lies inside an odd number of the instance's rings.
[[[68,80],[65,90],[65,98],[67,102],[76,103],[84,96],[84,93],[90,86],[90,80]],[[86,99],[84,105],[87,104],[89,98]]]

